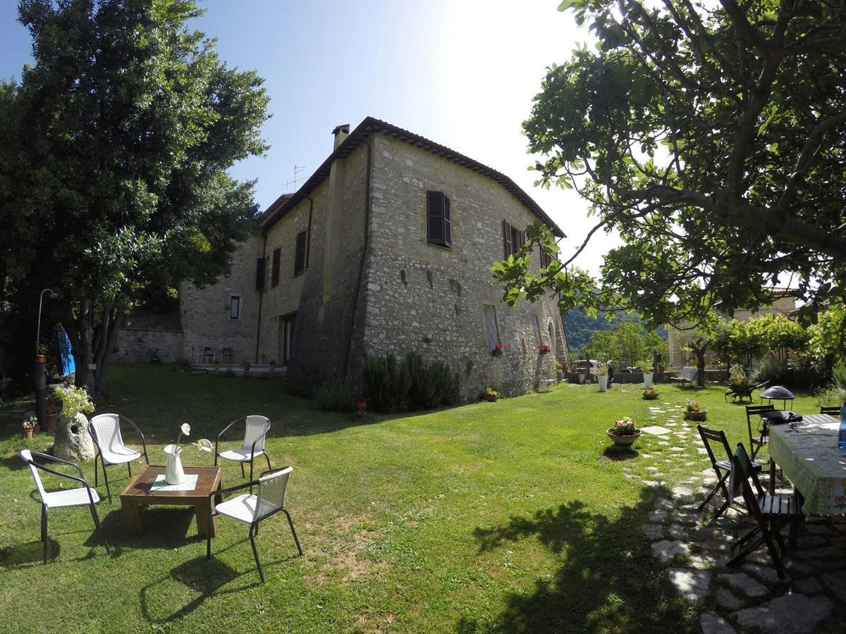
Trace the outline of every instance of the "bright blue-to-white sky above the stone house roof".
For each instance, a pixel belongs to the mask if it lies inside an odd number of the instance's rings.
[[[265,157],[233,167],[257,179],[264,209],[293,189],[294,165],[308,178],[332,150],[332,128],[366,116],[422,134],[519,183],[557,221],[572,253],[591,226],[577,196],[533,187],[520,123],[544,69],[580,42],[558,0],[210,0],[195,27],[217,38],[230,66],[266,80],[272,119]],[[0,76],[31,62],[17,3],[0,0]],[[298,184],[299,184],[298,183]],[[595,269],[612,242],[600,237],[581,260]]]

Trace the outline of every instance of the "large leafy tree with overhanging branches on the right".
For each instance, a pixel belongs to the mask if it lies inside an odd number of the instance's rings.
[[[843,302],[846,5],[839,0],[565,0],[596,48],[548,69],[524,123],[543,186],[575,189],[607,254],[599,292],[542,227],[496,265],[505,299],[618,304],[658,323],[732,314],[797,287],[802,318]],[[589,236],[590,237],[590,236]],[[582,249],[585,245],[582,245]],[[580,253],[579,249],[576,255]],[[575,256],[574,256],[575,257]]]

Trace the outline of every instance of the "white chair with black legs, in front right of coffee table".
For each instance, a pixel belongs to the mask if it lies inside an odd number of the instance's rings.
[[[209,494],[209,503],[211,504],[211,498],[217,497],[217,495],[232,493],[233,491],[239,491],[248,487],[250,490],[254,486],[257,487],[256,495],[244,493],[234,497],[232,500],[218,504],[215,506],[215,510],[212,511],[211,516],[213,518],[217,515],[225,515],[239,522],[250,524],[250,544],[253,547],[255,566],[259,570],[259,577],[262,583],[264,583],[264,572],[261,571],[261,561],[259,561],[259,554],[255,549],[254,538],[259,532],[259,522],[282,511],[288,517],[288,526],[291,527],[291,534],[294,535],[294,543],[297,544],[297,550],[299,550],[300,555],[303,554],[297,533],[294,531],[294,522],[291,521],[291,514],[285,508],[285,490],[288,489],[288,479],[291,477],[292,471],[294,471],[294,467],[284,467],[276,471],[267,471],[262,473],[255,482],[250,481],[229,489],[212,491]],[[206,560],[211,560],[211,531],[209,531],[206,538]]]

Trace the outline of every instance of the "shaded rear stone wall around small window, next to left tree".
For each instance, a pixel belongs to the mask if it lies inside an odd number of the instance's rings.
[[[232,349],[234,363],[260,363],[256,354],[261,293],[255,290],[255,260],[262,256],[264,238],[253,236],[233,254],[232,270],[217,284],[198,288],[189,282],[179,287],[179,307],[183,327],[182,351],[185,359],[202,363],[206,347]],[[230,298],[241,298],[237,319],[230,316]]]

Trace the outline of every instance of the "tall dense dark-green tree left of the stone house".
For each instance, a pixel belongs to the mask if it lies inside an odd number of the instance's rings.
[[[257,212],[253,183],[227,169],[266,150],[268,100],[188,28],[199,14],[190,0],[19,3],[35,64],[0,87],[0,283],[21,309],[60,292],[52,314],[96,394],[138,293],[214,281]]]

